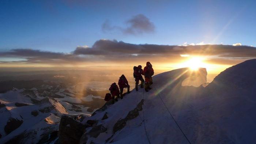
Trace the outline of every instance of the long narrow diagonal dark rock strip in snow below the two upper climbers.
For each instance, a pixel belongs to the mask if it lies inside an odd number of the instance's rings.
[[[142,105],[144,103],[144,99],[142,99],[138,105],[135,107],[135,109],[129,111],[129,113],[127,114],[127,116],[124,119],[120,119],[116,122],[116,124],[114,124],[113,127],[113,133],[116,133],[118,130],[121,130],[124,128],[124,126],[126,125],[126,122],[128,120],[132,120],[133,118],[138,117],[139,115],[139,111],[142,110]]]

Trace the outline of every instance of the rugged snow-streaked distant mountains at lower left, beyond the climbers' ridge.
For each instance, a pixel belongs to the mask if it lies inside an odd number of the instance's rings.
[[[0,94],[0,143],[49,143],[57,138],[63,114],[89,117],[104,103],[101,96],[61,85],[13,88]]]

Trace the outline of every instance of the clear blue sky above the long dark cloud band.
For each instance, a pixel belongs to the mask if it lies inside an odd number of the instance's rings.
[[[0,50],[31,48],[72,52],[99,39],[127,43],[182,45],[214,43],[256,46],[256,1],[82,1],[1,0]],[[142,14],[155,26],[152,33],[103,32],[127,27],[127,20]]]

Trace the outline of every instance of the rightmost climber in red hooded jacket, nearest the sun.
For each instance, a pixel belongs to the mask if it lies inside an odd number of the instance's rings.
[[[146,67],[143,69],[143,73],[145,76],[145,91],[148,92],[148,90],[151,90],[150,86],[153,84],[152,76],[154,75],[154,69],[150,62],[147,62]]]

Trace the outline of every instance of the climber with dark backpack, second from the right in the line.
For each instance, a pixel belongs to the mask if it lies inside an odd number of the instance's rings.
[[[138,91],[139,81],[141,81],[140,88],[143,88],[144,79],[143,79],[142,75],[143,75],[142,66],[141,65],[138,65],[138,67],[134,66],[133,67],[133,77],[135,78],[135,89],[136,89],[136,91]]]

